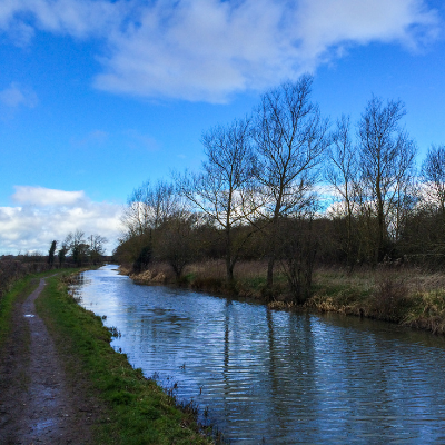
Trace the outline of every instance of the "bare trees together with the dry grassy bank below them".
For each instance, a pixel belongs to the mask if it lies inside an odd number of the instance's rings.
[[[417,168],[400,100],[373,96],[356,122],[329,122],[312,81],[205,131],[199,171],[136,188],[115,258],[137,283],[442,332],[442,281],[413,283],[445,265],[445,146]]]

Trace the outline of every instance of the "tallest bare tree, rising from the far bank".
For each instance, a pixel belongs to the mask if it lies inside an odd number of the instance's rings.
[[[271,288],[278,246],[278,221],[314,204],[317,166],[328,145],[327,120],[310,101],[313,78],[301,76],[266,92],[255,126],[258,181],[269,225],[267,285]]]

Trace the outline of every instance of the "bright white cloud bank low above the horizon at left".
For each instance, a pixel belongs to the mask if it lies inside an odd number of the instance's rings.
[[[91,201],[83,191],[17,187],[17,207],[0,207],[0,254],[46,253],[53,239],[77,229],[108,238],[108,253],[120,234],[122,207]]]

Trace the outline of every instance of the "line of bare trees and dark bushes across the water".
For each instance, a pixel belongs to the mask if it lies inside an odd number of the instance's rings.
[[[445,259],[445,146],[421,169],[400,100],[372,97],[357,122],[329,122],[301,76],[264,93],[250,116],[202,134],[200,171],[149,181],[129,196],[115,251],[141,271],[224,258],[228,284],[240,259],[276,266],[297,303],[316,263],[376,266]]]

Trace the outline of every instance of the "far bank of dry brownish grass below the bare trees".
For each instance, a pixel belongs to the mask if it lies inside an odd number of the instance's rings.
[[[276,274],[273,300],[268,301],[266,264],[239,263],[235,283],[227,286],[222,261],[206,261],[187,267],[181,280],[176,281],[168,265],[154,265],[142,274],[131,275],[137,284],[179,284],[196,290],[237,295],[255,299],[271,309],[334,312],[344,315],[397,323],[413,328],[445,334],[445,274],[415,267],[375,269],[318,268],[313,277],[313,295],[304,306],[296,306],[286,277]]]

